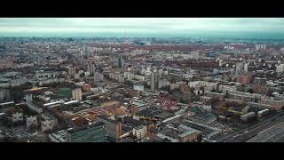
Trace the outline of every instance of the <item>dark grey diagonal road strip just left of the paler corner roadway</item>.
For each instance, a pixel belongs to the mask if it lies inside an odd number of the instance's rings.
[[[241,131],[229,133],[218,139],[217,142],[245,142],[255,137],[259,132],[262,132],[273,125],[280,124],[282,122],[284,122],[284,116],[283,113],[279,113],[275,116],[266,118],[264,121],[258,124],[242,129]]]

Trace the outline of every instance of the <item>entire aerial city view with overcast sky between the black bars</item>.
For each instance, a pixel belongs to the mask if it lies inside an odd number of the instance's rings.
[[[0,18],[0,141],[283,142],[283,31],[282,18]]]

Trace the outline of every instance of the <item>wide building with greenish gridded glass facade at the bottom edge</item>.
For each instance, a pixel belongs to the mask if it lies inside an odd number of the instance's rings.
[[[106,126],[99,122],[67,131],[69,142],[106,142]]]

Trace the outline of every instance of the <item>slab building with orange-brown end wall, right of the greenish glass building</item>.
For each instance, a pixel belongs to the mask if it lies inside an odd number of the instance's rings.
[[[97,116],[97,121],[102,122],[106,126],[106,136],[117,141],[122,135],[122,123],[107,118],[104,115]]]

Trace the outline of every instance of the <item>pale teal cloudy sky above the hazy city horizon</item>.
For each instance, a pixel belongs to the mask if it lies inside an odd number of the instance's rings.
[[[283,35],[284,18],[0,18],[0,36]]]

